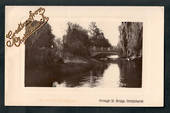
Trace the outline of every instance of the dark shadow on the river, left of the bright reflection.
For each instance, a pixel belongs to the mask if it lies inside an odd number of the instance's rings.
[[[93,84],[103,75],[107,65],[100,64],[57,64],[52,67],[26,67],[25,85],[27,87],[51,87],[54,82],[65,83],[66,87],[79,87],[84,83]]]

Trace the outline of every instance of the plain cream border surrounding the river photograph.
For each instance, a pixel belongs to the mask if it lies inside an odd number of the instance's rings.
[[[26,6],[5,7],[5,33],[12,10]],[[30,10],[40,6],[28,6]],[[118,6],[42,6],[67,11],[71,16],[106,16],[122,21],[142,21],[143,72],[142,88],[25,88],[24,45],[5,47],[5,105],[6,106],[138,106],[163,107],[164,79],[164,7]],[[90,10],[93,9],[93,10]],[[88,10],[87,10],[88,9]],[[11,13],[9,12],[11,11]],[[73,13],[75,12],[75,13]],[[88,12],[88,13],[83,13]],[[112,14],[109,15],[108,14]],[[15,13],[15,12],[13,12]],[[53,12],[48,12],[53,13]],[[47,13],[47,14],[48,14]],[[59,16],[65,13],[59,13]],[[70,16],[69,15],[69,16]],[[88,16],[89,16],[88,15]],[[14,17],[12,19],[15,19]],[[20,20],[18,20],[18,23]],[[15,23],[16,26],[18,23]],[[99,99],[140,99],[143,103],[105,103]]]

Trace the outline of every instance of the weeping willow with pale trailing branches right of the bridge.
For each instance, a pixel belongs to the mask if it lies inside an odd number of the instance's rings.
[[[141,57],[143,24],[141,22],[122,22],[119,26],[119,56],[121,57]]]

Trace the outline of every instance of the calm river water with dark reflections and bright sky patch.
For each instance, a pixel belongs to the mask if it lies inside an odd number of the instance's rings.
[[[114,58],[114,57],[112,57]],[[141,87],[141,60],[127,61],[113,59],[89,66],[56,67],[49,69],[26,70],[26,86],[31,87]],[[51,69],[51,68],[50,68]]]

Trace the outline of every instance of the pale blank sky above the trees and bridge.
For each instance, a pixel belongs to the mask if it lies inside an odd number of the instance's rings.
[[[71,19],[50,19],[49,24],[52,27],[52,33],[57,38],[62,38],[64,34],[66,34],[67,23],[72,22],[79,24],[83,28],[89,30],[89,25],[91,22],[96,22],[96,25],[103,31],[105,38],[109,40],[112,45],[116,45],[118,42],[118,26],[119,22],[114,22],[111,20],[103,20],[103,19],[89,19],[89,18],[71,18]]]

